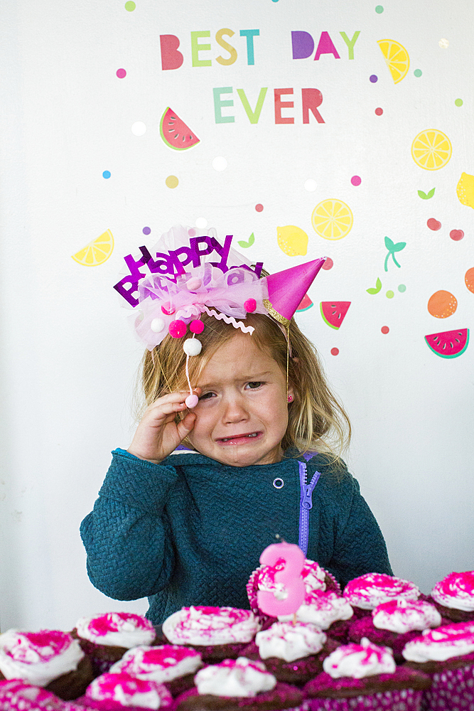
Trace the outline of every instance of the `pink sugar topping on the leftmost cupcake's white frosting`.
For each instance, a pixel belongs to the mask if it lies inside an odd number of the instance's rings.
[[[39,632],[16,632],[8,646],[6,656],[23,663],[48,662],[68,649],[74,640],[67,632],[42,629]]]

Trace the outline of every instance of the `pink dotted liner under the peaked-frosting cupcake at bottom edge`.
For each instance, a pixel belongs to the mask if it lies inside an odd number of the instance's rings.
[[[308,711],[421,711],[423,692],[413,689],[380,691],[340,699],[308,699]]]

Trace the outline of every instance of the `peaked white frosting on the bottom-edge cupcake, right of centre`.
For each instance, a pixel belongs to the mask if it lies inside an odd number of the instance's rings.
[[[362,679],[375,674],[394,674],[392,650],[372,644],[362,637],[360,644],[340,646],[323,661],[323,669],[333,679],[343,676]]]

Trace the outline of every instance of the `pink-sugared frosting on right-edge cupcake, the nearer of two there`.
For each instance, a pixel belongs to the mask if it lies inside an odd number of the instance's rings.
[[[451,657],[474,652],[474,622],[459,622],[426,629],[421,636],[406,643],[402,654],[411,662],[443,662]]]

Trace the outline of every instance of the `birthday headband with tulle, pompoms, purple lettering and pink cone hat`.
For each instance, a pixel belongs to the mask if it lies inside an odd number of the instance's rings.
[[[124,257],[129,274],[114,284],[114,289],[134,309],[139,307],[134,328],[149,351],[168,333],[183,338],[189,328],[193,334],[183,343],[191,392],[185,401],[188,407],[197,405],[188,361],[190,355],[201,351],[201,343],[195,338],[204,329],[201,314],[223,319],[243,333],[254,331],[242,323],[247,314],[266,314],[288,328],[325,261],[322,257],[261,277],[263,262],[253,265],[232,249],[232,235],[227,235],[221,245],[215,230],[199,235],[194,228],[182,225],[162,235],[151,252],[145,246],[139,250],[141,257]]]

